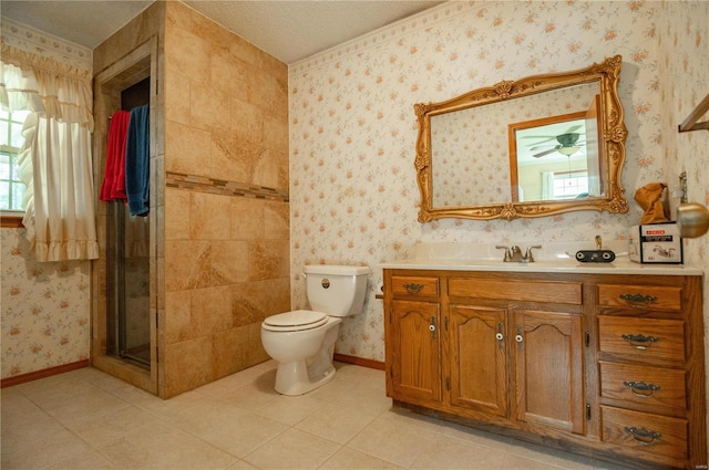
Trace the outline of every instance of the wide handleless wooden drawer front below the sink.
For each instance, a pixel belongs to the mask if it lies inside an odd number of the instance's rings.
[[[448,284],[448,294],[477,299],[582,304],[582,284],[577,282],[451,278]]]

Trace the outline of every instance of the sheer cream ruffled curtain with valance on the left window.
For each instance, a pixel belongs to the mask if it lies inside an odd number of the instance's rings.
[[[91,72],[2,44],[0,104],[32,111],[19,155],[38,261],[99,258],[91,168]]]

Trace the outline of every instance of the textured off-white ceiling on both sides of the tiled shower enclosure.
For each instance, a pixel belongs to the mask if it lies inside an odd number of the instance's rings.
[[[94,49],[152,2],[2,0],[0,13]],[[185,3],[280,61],[292,64],[442,2],[188,0]]]

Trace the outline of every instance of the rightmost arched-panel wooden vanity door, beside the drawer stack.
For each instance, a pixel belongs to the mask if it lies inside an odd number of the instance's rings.
[[[583,321],[513,311],[516,419],[584,434]]]

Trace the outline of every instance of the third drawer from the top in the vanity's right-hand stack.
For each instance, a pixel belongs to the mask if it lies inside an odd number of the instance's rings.
[[[685,370],[600,362],[600,396],[641,405],[687,408]]]

